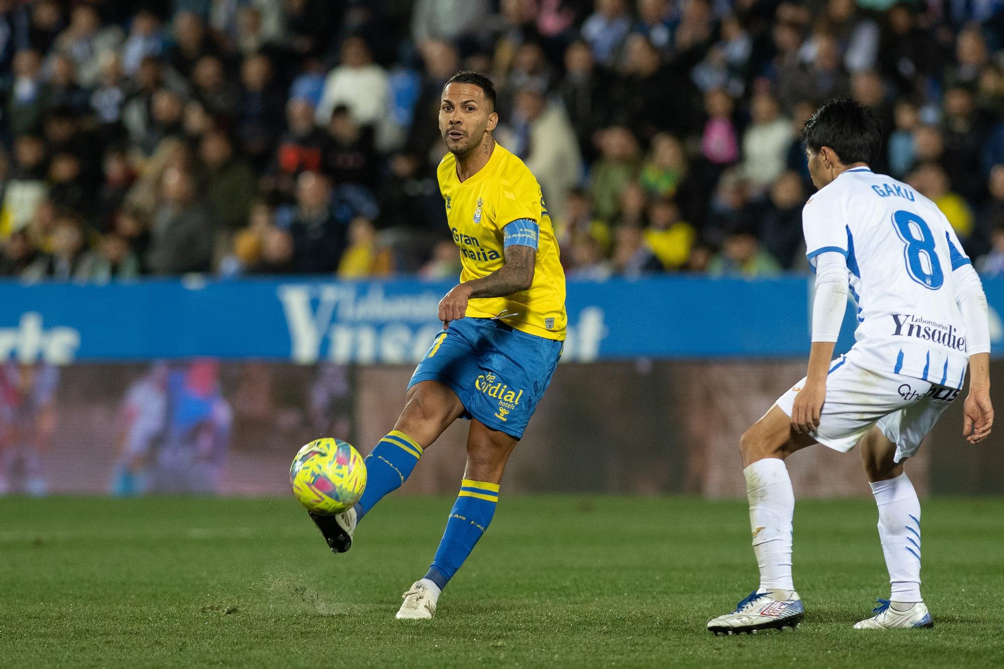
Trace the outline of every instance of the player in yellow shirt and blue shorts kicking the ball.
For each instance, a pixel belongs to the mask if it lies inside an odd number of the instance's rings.
[[[523,436],[565,338],[565,282],[540,185],[495,143],[495,87],[459,72],[443,88],[440,133],[450,151],[439,166],[463,271],[440,301],[443,331],[408,387],[394,430],[366,457],[368,480],[355,506],[311,517],[335,552],[356,523],[405,482],[424,449],[458,418],[471,421],[467,469],[446,532],[425,578],[405,593],[398,618],[432,618],[495,513],[506,460]]]

